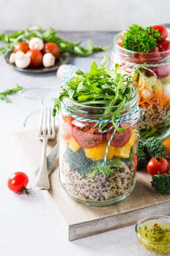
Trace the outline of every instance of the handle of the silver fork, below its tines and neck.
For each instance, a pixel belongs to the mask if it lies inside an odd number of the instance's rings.
[[[47,138],[42,138],[42,161],[39,168],[39,176],[36,178],[36,189],[50,189],[47,174]]]

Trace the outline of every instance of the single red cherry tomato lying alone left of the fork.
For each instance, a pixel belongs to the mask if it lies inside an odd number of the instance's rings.
[[[26,186],[28,184],[28,176],[26,173],[17,172],[13,173],[8,179],[8,187],[12,192],[21,194],[26,192]]]

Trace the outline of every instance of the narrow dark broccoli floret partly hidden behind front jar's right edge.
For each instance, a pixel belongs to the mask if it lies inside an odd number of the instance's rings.
[[[137,149],[137,170],[142,170],[147,165],[147,155],[144,152],[144,143],[139,140]]]

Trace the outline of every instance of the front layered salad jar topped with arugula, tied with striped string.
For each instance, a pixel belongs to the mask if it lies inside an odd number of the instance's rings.
[[[140,110],[131,75],[107,59],[77,70],[55,99],[59,112],[60,180],[80,203],[107,206],[127,197],[136,181]]]

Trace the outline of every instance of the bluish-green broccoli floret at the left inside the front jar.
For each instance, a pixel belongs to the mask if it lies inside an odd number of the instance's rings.
[[[93,165],[93,161],[85,156],[82,148],[74,152],[68,147],[64,154],[64,159],[71,168],[78,170],[82,177],[85,176],[90,165]]]

